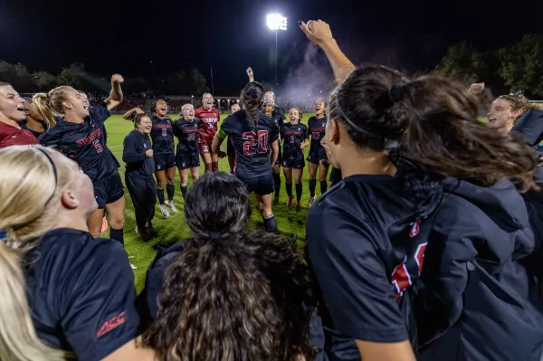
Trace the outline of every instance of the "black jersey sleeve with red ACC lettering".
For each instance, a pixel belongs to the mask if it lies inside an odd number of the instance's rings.
[[[139,335],[134,273],[119,242],[99,242],[62,289],[62,331],[80,361],[99,361]]]

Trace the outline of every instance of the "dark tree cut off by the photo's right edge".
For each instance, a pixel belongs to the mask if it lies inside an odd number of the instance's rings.
[[[543,96],[543,35],[526,34],[497,52],[500,77],[515,90]]]

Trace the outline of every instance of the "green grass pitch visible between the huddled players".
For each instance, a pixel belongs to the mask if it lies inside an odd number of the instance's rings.
[[[307,124],[308,119],[310,119],[311,114],[304,114],[302,123]],[[172,119],[177,119],[178,116],[170,116]],[[221,119],[224,119],[225,116],[221,116]],[[121,163],[121,168],[119,173],[124,182],[124,164],[122,163],[122,144],[124,138],[129,134],[130,130],[133,129],[131,122],[122,119],[121,116],[112,116],[106,121],[106,128],[108,130],[108,147]],[[223,143],[224,150],[226,147],[226,142]],[[306,152],[309,150],[309,147],[305,148]],[[297,247],[301,251],[303,244],[303,239],[305,237],[305,220],[308,212],[308,208],[305,206],[309,200],[310,191],[309,191],[309,168],[307,166],[304,168],[304,176],[302,178],[303,185],[303,195],[301,198],[301,211],[296,212],[294,207],[287,208],[286,206],[286,191],[284,187],[284,176],[282,176],[281,169],[281,203],[273,207],[273,213],[277,219],[277,224],[281,233],[295,233],[297,235]],[[230,172],[230,167],[228,166],[228,160],[226,158],[219,161],[219,168],[221,171]],[[204,174],[204,165],[200,166],[200,174]],[[172,214],[169,218],[165,218],[158,209],[155,214],[155,219],[153,220],[153,225],[159,233],[156,238],[149,242],[143,242],[138,236],[138,233],[135,232],[136,220],[134,216],[134,206],[132,200],[130,199],[129,191],[125,187],[125,197],[126,197],[126,212],[125,212],[125,248],[129,253],[129,256],[132,256],[130,262],[138,266],[138,269],[134,271],[136,277],[136,288],[138,292],[143,289],[145,283],[145,276],[148,269],[149,262],[155,257],[157,243],[166,243],[173,244],[175,242],[183,241],[186,238],[190,237],[191,232],[185,222],[184,214],[184,202],[183,196],[181,195],[181,190],[179,189],[180,177],[178,173],[176,174],[176,197],[175,203],[176,207],[179,210],[178,214]],[[192,180],[189,176],[189,186],[192,184]],[[166,193],[166,191],[165,191]],[[319,182],[317,182],[316,194],[320,194]],[[263,228],[262,217],[256,211],[256,201],[254,196],[252,199],[252,222],[250,227],[260,227]],[[104,236],[109,236],[109,231],[104,233]]]

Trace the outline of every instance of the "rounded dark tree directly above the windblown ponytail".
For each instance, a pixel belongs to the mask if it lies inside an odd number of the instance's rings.
[[[481,81],[481,72],[486,68],[485,57],[472,43],[461,42],[450,46],[435,74],[472,83]]]

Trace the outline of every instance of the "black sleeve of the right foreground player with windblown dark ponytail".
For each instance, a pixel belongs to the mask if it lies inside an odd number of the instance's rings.
[[[408,339],[405,320],[376,246],[384,237],[326,198],[308,215],[310,266],[335,328],[363,341],[401,342]]]

